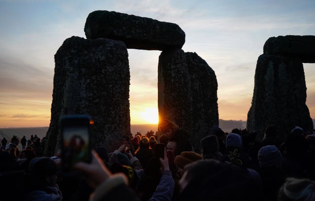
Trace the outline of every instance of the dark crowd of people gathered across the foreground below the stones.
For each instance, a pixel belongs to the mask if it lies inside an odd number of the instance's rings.
[[[219,127],[201,139],[164,120],[159,132],[126,135],[112,153],[92,151],[65,173],[59,157],[42,157],[46,139],[1,141],[0,200],[27,201],[315,201],[315,134],[277,126],[256,133]]]

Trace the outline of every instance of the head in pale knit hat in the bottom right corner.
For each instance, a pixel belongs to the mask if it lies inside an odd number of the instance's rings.
[[[278,194],[278,201],[314,200],[315,182],[309,179],[287,178]]]

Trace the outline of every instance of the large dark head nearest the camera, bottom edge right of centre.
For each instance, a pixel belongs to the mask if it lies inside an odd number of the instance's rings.
[[[249,172],[213,159],[199,160],[185,167],[179,181],[181,201],[255,201],[260,189]]]

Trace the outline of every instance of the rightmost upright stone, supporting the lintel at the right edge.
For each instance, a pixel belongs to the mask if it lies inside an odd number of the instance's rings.
[[[284,56],[260,55],[255,71],[252,106],[247,128],[264,136],[268,125],[279,126],[285,137],[295,126],[313,131],[313,121],[305,104],[306,85],[303,64]]]

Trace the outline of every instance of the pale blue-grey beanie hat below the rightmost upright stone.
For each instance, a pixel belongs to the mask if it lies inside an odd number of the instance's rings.
[[[258,152],[258,161],[260,167],[277,166],[283,160],[281,152],[275,145],[261,147]]]

